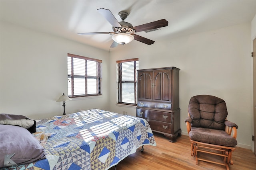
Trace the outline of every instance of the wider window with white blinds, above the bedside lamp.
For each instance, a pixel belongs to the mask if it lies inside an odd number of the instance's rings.
[[[68,53],[68,96],[102,95],[102,60]]]

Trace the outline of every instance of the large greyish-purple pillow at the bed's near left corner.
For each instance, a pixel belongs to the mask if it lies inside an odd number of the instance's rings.
[[[44,148],[39,141],[25,128],[0,124],[0,168],[4,167],[4,156],[11,158],[16,164],[27,164],[46,158]]]

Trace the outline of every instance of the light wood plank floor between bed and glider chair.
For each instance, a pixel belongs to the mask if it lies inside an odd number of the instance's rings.
[[[116,170],[225,170],[225,166],[203,162],[190,155],[188,136],[178,137],[171,143],[160,133],[154,133],[156,147],[145,145],[118,163]],[[218,158],[217,158],[218,159]],[[236,147],[230,170],[256,170],[256,156],[248,149]],[[112,167],[110,170],[114,170]]]

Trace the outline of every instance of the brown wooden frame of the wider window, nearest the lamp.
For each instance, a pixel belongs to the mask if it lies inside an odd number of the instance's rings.
[[[80,55],[74,55],[74,54],[70,54],[68,53],[67,55],[67,59],[68,57],[71,57],[71,74],[68,74],[68,78],[71,78],[71,95],[68,95],[68,97],[70,98],[79,98],[79,97],[88,97],[88,96],[100,96],[102,95],[102,60],[99,59],[93,59],[93,58],[89,58],[89,57],[84,57],[84,56],[80,56]],[[78,59],[83,59],[85,60],[85,76],[81,76],[81,75],[74,75],[74,65],[73,65],[73,59],[74,58],[78,58]],[[96,76],[88,76],[87,75],[87,62],[86,61],[95,61],[96,63]],[[67,63],[68,66],[68,63]],[[85,78],[85,94],[82,95],[74,95],[74,78]],[[97,85],[97,90],[96,90],[96,94],[87,94],[88,93],[88,86],[87,86],[87,80],[88,78],[95,78],[96,79],[96,85]]]

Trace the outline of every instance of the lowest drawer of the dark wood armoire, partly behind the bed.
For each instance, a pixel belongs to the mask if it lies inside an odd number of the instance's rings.
[[[155,121],[151,119],[147,119],[151,129],[154,131],[160,131],[164,133],[172,133],[172,123],[165,123],[161,121]]]

